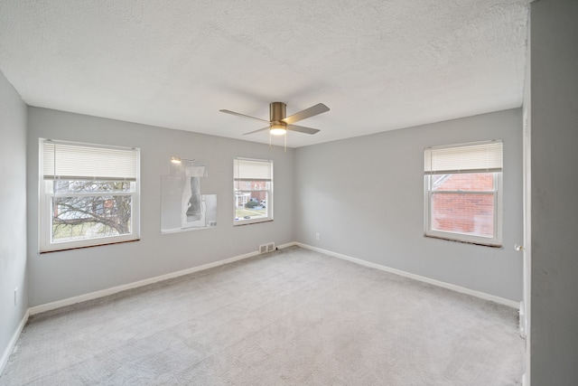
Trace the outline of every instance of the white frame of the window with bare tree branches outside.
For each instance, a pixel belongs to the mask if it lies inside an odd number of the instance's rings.
[[[130,183],[129,192],[94,192],[94,193],[55,193],[54,192],[54,182],[56,180],[65,181],[105,181],[110,182],[113,180],[107,178],[84,178],[84,179],[72,179],[72,178],[59,178],[54,175],[52,177],[45,178],[44,175],[44,159],[43,159],[43,149],[42,146],[47,142],[53,142],[55,144],[62,144],[66,146],[79,146],[79,147],[92,147],[95,149],[116,149],[116,150],[126,150],[135,152],[135,179],[134,181],[126,182]],[[99,245],[109,245],[117,244],[127,241],[140,240],[140,149],[135,147],[122,147],[122,146],[104,146],[89,143],[80,142],[70,142],[61,140],[49,140],[45,138],[40,138],[39,141],[39,251],[40,253],[54,252],[59,250],[67,249],[79,249],[87,247],[96,247]],[[122,180],[115,180],[122,181]],[[66,198],[66,197],[102,197],[102,196],[130,196],[131,197],[131,220],[130,220],[130,232],[126,234],[121,234],[117,236],[103,236],[91,239],[82,240],[65,240],[65,241],[55,241],[52,238],[53,230],[53,199],[54,198]]]

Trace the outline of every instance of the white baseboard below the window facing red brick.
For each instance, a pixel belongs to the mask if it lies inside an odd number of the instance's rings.
[[[456,285],[446,283],[446,282],[443,282],[440,280],[435,280],[433,278],[426,278],[424,276],[415,275],[413,273],[409,273],[409,272],[406,272],[406,271],[403,271],[400,269],[389,268],[389,267],[382,266],[382,265],[376,264],[376,263],[372,263],[372,262],[369,262],[366,260],[352,258],[350,256],[343,255],[343,254],[340,254],[337,252],[332,252],[331,250],[312,247],[311,245],[303,244],[301,242],[296,242],[295,245],[298,245],[299,247],[302,247],[305,249],[311,249],[311,250],[314,250],[316,252],[320,252],[320,253],[323,253],[325,255],[332,256],[334,258],[348,260],[348,261],[351,261],[351,262],[354,262],[354,263],[357,263],[359,265],[366,266],[369,268],[380,269],[380,270],[383,270],[383,271],[386,271],[389,273],[393,273],[395,275],[403,276],[405,278],[413,278],[414,280],[422,281],[422,282],[428,283],[428,284],[433,284],[433,286],[451,289],[452,291],[460,292],[461,294],[471,295],[472,297],[480,297],[480,299],[489,300],[489,301],[492,301],[494,303],[498,303],[498,304],[504,305],[504,306],[510,306],[512,308],[516,308],[517,310],[519,310],[519,306],[520,306],[519,302],[514,301],[514,300],[509,300],[509,299],[506,299],[504,297],[496,297],[494,295],[489,295],[489,294],[486,294],[484,292],[475,291],[475,290],[470,289],[470,288],[460,287],[460,286],[456,286]]]

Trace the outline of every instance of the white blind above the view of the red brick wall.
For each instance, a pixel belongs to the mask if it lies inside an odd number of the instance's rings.
[[[502,163],[501,141],[424,149],[425,174],[494,173]]]

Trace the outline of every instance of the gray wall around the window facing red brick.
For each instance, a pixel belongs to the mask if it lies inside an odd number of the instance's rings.
[[[425,238],[424,147],[488,139],[504,141],[504,248]],[[297,241],[522,299],[521,109],[300,147],[295,182]]]

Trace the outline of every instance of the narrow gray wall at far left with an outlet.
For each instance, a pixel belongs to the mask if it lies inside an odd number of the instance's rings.
[[[2,133],[0,357],[2,357],[28,308],[28,280],[26,278],[26,105],[1,71],[0,132]],[[14,306],[15,287],[19,287],[19,291]]]

